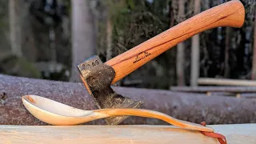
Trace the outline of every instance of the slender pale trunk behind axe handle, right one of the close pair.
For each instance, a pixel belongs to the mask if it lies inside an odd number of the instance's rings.
[[[194,0],[194,15],[200,13],[201,9],[201,0]],[[192,37],[192,47],[191,47],[191,77],[190,85],[198,86],[198,77],[199,77],[199,62],[200,62],[200,39],[199,34]]]

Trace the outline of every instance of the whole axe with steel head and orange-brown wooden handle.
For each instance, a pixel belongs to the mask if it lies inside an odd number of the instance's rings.
[[[98,56],[87,59],[78,65],[80,77],[99,109],[138,108],[142,105],[141,101],[117,94],[110,85],[195,34],[218,26],[239,28],[244,21],[245,8],[242,2],[225,2],[179,23],[105,63],[102,63]],[[117,125],[126,118],[127,116],[111,117],[106,118],[106,122],[109,125]]]

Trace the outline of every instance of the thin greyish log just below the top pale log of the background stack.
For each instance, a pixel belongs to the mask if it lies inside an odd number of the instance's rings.
[[[207,92],[230,92],[230,93],[256,93],[256,86],[172,86],[172,91],[207,93]]]

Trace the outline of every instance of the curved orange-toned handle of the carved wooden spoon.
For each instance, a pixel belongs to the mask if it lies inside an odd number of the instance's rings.
[[[168,122],[174,126],[190,129],[190,130],[199,130],[206,132],[214,132],[214,129],[202,126],[192,122],[186,122],[179,120],[177,118],[173,118],[167,114],[160,113],[154,110],[144,110],[144,109],[101,109],[101,110],[93,110],[95,113],[106,115],[106,117],[111,116],[121,116],[121,115],[130,115],[130,116],[140,116],[146,118],[158,118],[162,121]]]

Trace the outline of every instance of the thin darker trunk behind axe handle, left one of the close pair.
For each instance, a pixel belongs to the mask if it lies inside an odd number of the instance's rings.
[[[184,0],[178,0],[178,23],[182,22],[185,18],[185,3]],[[184,63],[185,63],[185,56],[184,56],[184,42],[181,42],[177,46],[177,58],[176,58],[176,65],[177,65],[177,79],[178,79],[178,86],[185,85],[185,74],[184,74]]]

